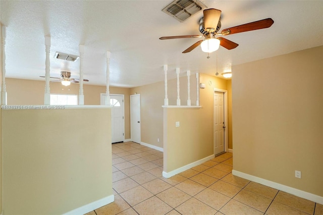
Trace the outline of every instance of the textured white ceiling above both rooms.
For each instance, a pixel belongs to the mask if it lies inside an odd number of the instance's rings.
[[[227,35],[239,44],[207,53],[199,47],[182,51],[200,38],[159,40],[161,36],[200,34],[197,13],[181,23],[161,10],[170,1],[6,1],[0,2],[1,22],[7,26],[6,77],[43,80],[44,36],[51,37],[50,76],[68,70],[79,77],[79,61],[55,60],[56,51],[79,55],[85,45],[84,78],[88,84],[105,85],[106,51],[111,51],[112,86],[134,87],[164,80],[177,67],[184,75],[221,74],[231,65],[243,64],[323,45],[323,1],[201,1],[222,11],[222,28],[265,18],[267,29]],[[201,34],[200,34],[201,35]]]

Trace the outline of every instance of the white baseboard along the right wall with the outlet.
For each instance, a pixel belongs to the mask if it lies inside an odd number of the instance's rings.
[[[252,176],[252,175],[249,175],[249,174],[246,174],[246,173],[242,173],[242,172],[239,172],[239,171],[236,171],[236,170],[232,170],[232,175],[239,176],[241,178],[248,179],[250,181],[253,181],[253,182],[268,186],[268,187],[272,187],[272,188],[284,191],[286,193],[290,193],[290,194],[293,194],[295,196],[305,198],[305,199],[310,200],[310,201],[314,201],[314,202],[323,204],[323,196],[318,196],[318,195],[315,195],[315,194],[312,194],[312,193],[308,193],[308,192],[305,192],[305,191],[302,191],[302,190],[298,190],[296,188],[289,187],[289,186],[286,186],[286,185],[283,185],[283,184],[279,184],[279,183],[276,183],[276,182],[273,182],[273,181],[268,181],[266,179],[262,179],[262,178]]]

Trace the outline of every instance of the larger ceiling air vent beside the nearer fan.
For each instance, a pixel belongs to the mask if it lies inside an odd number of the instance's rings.
[[[198,0],[175,0],[164,8],[163,11],[178,21],[184,22],[186,19],[205,8],[206,6]]]

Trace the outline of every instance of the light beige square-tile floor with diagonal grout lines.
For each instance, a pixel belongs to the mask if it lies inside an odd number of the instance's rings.
[[[112,145],[115,201],[101,214],[323,214],[323,205],[233,176],[232,153],[162,176],[163,152],[133,143]]]

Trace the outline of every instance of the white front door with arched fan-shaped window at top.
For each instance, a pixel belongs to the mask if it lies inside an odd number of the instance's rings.
[[[101,93],[101,104],[105,104],[105,94]],[[123,142],[125,140],[124,120],[124,95],[110,94],[111,110],[111,142]]]

